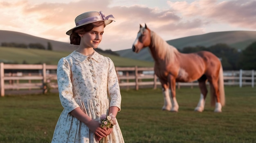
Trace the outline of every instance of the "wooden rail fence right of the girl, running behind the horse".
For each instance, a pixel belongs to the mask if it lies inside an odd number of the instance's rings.
[[[119,85],[129,88],[135,86],[138,90],[139,86],[152,85],[155,89],[157,85],[161,85],[157,76],[154,74],[154,68],[138,68],[138,67],[116,67],[119,78]],[[254,87],[255,71],[242,70],[239,71],[223,71],[224,85],[239,85],[239,87],[251,85]],[[152,79],[150,81],[147,81]],[[178,82],[177,88],[181,86],[198,86],[198,82]]]

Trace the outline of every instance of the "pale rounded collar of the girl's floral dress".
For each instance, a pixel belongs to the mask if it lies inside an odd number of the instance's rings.
[[[76,52],[75,50],[70,54],[73,58],[76,59],[76,61],[83,62],[86,58],[92,58],[95,61],[99,62],[100,54],[94,50],[94,53],[92,56],[85,56],[84,54],[81,54],[79,52]]]

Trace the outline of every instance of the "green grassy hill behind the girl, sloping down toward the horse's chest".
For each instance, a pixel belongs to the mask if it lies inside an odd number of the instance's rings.
[[[1,47],[2,42],[25,44],[41,43],[45,47],[47,47],[47,42],[50,42],[53,50]],[[60,58],[67,56],[75,49],[76,47],[70,45],[70,43],[35,37],[21,32],[0,30],[0,62],[18,64],[46,63],[56,65]],[[135,65],[138,67],[153,67],[153,62],[150,61],[139,61],[106,53],[101,54],[110,57],[115,63],[115,66],[118,67],[134,67]]]

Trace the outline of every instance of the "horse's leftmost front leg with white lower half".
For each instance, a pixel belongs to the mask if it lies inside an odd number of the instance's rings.
[[[164,95],[164,106],[162,107],[162,110],[171,111],[172,104],[168,84],[162,80],[160,80],[160,82],[162,84],[162,93]]]

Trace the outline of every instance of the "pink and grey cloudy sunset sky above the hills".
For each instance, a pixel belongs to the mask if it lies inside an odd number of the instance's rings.
[[[115,22],[99,48],[132,48],[139,25],[164,40],[209,32],[256,30],[256,0],[0,0],[0,30],[70,42],[65,34],[86,11],[103,11]]]

